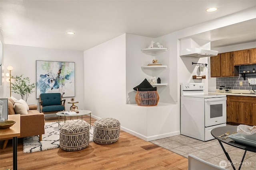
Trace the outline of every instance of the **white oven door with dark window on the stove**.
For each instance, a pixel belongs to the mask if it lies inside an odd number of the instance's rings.
[[[226,100],[226,97],[204,99],[205,127],[226,123]]]

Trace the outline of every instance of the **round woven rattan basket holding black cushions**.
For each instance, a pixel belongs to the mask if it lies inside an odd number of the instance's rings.
[[[156,106],[159,101],[157,91],[138,91],[135,96],[138,106]]]

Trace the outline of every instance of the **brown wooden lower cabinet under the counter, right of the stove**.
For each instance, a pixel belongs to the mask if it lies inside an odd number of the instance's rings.
[[[227,95],[227,123],[256,125],[256,97]]]

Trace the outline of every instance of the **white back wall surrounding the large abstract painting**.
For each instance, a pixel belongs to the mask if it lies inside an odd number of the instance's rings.
[[[70,50],[58,50],[47,49],[40,47],[27,47],[21,45],[8,45],[4,44],[4,65],[5,68],[9,65],[13,66],[12,75],[21,75],[23,77],[29,77],[30,82],[36,82],[36,60],[42,61],[67,61],[75,62],[75,74],[76,74],[76,96],[75,100],[79,109],[84,109],[84,64],[83,64],[83,51],[70,51]],[[4,74],[8,72],[4,70]],[[7,77],[4,78],[6,80]],[[0,97],[9,97],[10,88],[9,84],[4,81],[3,93]],[[36,88],[34,89],[36,90]],[[12,92],[12,96],[20,99],[20,95]],[[71,104],[70,98],[66,99],[66,108],[69,108]],[[38,104],[36,99],[36,92],[30,94],[28,104]]]

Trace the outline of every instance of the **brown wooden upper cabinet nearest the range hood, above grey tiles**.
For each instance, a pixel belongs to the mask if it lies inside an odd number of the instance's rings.
[[[211,57],[211,77],[238,76],[238,68],[234,66],[232,52],[220,53]]]

